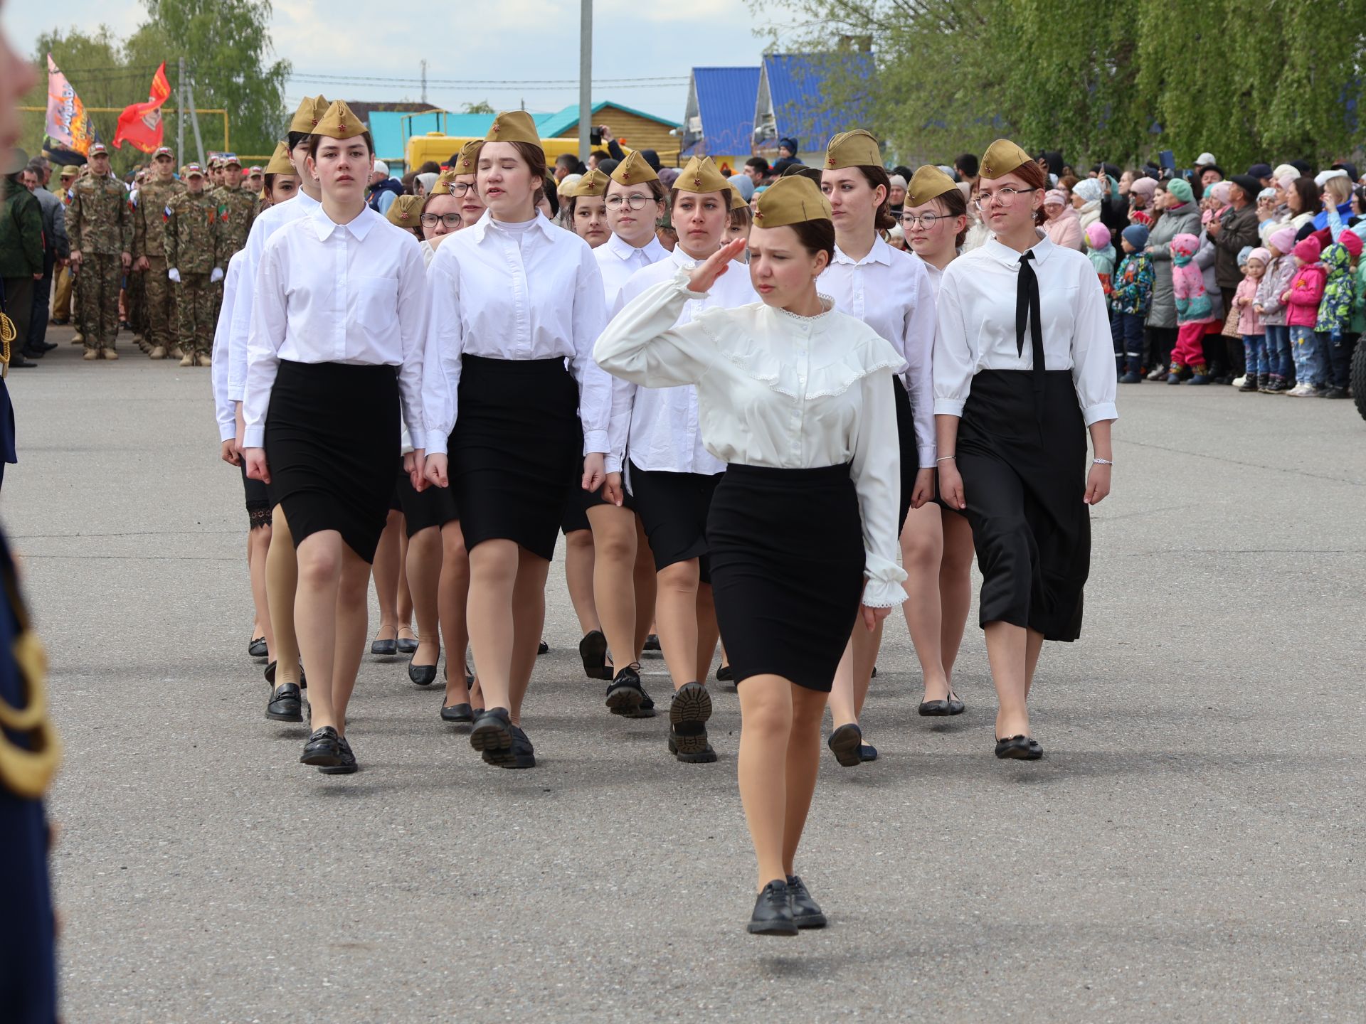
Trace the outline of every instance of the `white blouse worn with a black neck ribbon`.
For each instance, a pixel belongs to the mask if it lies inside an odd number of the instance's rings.
[[[1117,419],[1115,345],[1105,294],[1096,268],[1082,253],[1041,238],[1031,250],[1044,318],[1044,363],[1071,370],[1086,426]],[[963,415],[963,403],[979,370],[1031,370],[1015,340],[1015,295],[1020,254],[994,238],[944,269],[934,337],[934,412]]]

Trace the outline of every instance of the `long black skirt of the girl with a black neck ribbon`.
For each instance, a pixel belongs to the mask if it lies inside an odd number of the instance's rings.
[[[1091,564],[1086,425],[1071,370],[1045,373],[1044,419],[1030,370],[982,370],[958,427],[977,564],[981,624],[1011,623],[1046,640],[1082,631]]]

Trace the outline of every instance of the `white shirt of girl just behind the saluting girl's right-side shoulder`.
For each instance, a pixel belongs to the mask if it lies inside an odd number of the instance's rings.
[[[820,288],[835,309],[858,317],[892,343],[902,356],[897,370],[911,399],[919,466],[934,466],[934,298],[925,262],[873,238],[873,248],[854,261],[839,246],[821,274]]]

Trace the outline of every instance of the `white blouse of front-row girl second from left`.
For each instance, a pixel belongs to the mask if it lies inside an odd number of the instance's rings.
[[[537,214],[503,224],[485,210],[441,243],[428,268],[422,369],[428,452],[445,453],[460,393],[460,356],[563,356],[579,384],[583,453],[608,451],[612,378],[593,362],[607,306],[589,243]]]

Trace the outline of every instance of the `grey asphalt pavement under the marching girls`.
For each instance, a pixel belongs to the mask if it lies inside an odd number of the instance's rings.
[[[992,756],[975,612],[955,720],[917,717],[891,623],[865,715],[882,758],[826,755],[799,856],[831,927],[777,939],[744,931],[734,691],[713,687],[716,765],[676,763],[664,715],[608,714],[563,563],[535,770],[485,766],[440,687],[369,655],[363,770],[298,765],[305,726],[266,721],[246,654],[209,371],[52,337],[8,378],[0,519],[66,744],[67,1021],[1363,1019],[1352,403],[1121,388],[1083,636],[1046,646],[1031,702],[1046,758]]]

